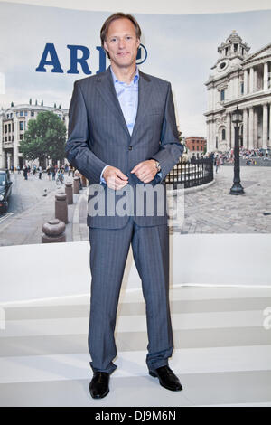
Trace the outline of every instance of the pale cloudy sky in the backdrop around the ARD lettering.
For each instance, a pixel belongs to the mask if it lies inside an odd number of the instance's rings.
[[[0,108],[28,103],[61,104],[69,108],[73,81],[86,77],[70,69],[67,44],[90,50],[92,74],[98,71],[100,27],[111,12],[73,11],[34,5],[0,3]],[[173,86],[177,121],[184,136],[206,137],[207,91],[217,48],[236,30],[251,47],[249,53],[271,43],[271,10],[234,14],[135,14],[148,56],[140,69],[169,80]],[[53,43],[64,73],[36,72],[46,43]],[[107,61],[107,65],[109,62]],[[2,91],[1,91],[2,85]],[[4,89],[4,90],[3,90]]]

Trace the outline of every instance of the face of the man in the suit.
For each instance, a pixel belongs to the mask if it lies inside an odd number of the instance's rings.
[[[110,55],[111,63],[118,68],[135,64],[139,44],[135,26],[129,19],[116,19],[109,25],[104,47]]]

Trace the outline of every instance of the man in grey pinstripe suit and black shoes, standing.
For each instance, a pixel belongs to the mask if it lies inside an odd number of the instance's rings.
[[[149,373],[165,388],[180,391],[182,385],[168,365],[173,331],[164,177],[183,152],[171,85],[137,69],[141,30],[134,16],[109,16],[100,36],[111,65],[75,82],[66,145],[70,164],[89,179],[89,205],[102,200],[104,206],[102,213],[90,208],[88,214],[89,391],[93,398],[105,397],[117,367],[117,303],[130,243],[146,303]],[[145,201],[138,208],[144,192],[147,200],[153,196],[151,213]]]

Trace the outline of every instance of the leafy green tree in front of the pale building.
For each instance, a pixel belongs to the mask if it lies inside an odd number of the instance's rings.
[[[28,121],[28,127],[20,144],[25,159],[39,158],[44,163],[50,156],[53,161],[62,160],[65,155],[66,127],[53,112],[40,112],[36,119]]]

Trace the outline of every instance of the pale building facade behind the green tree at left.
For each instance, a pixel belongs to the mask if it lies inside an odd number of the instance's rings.
[[[43,105],[23,104],[0,110],[0,168],[13,165],[23,167],[23,155],[20,153],[20,141],[27,129],[28,121],[37,118],[39,112],[51,111],[65,123],[68,129],[68,109]],[[27,161],[26,161],[27,163]]]

